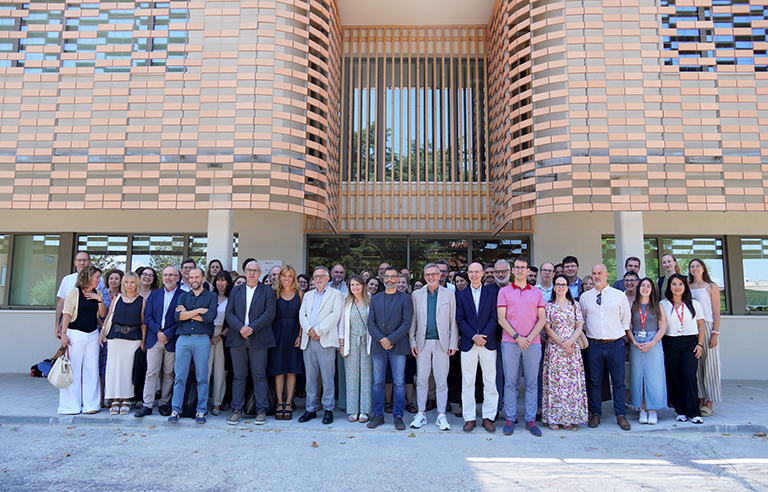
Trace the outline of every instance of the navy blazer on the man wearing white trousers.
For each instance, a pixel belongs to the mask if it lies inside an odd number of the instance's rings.
[[[472,288],[467,287],[456,293],[456,324],[461,332],[462,352],[469,352],[475,345],[472,337],[477,334],[485,335],[485,348],[488,350],[499,348],[496,340],[496,328],[499,325],[496,314],[497,297],[498,292],[495,289],[483,285],[480,289],[480,310],[475,312]]]

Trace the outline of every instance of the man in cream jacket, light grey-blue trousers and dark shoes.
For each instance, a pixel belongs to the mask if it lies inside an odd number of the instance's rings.
[[[312,275],[315,290],[304,295],[299,309],[301,350],[307,376],[307,410],[299,422],[317,417],[317,377],[323,378],[323,424],[333,422],[333,377],[336,374],[336,349],[339,348],[339,318],[344,301],[341,292],[328,286],[330,275],[324,266]]]

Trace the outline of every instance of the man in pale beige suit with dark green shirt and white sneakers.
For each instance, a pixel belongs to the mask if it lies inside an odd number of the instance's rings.
[[[456,324],[456,296],[440,286],[440,268],[434,263],[424,267],[426,287],[413,293],[413,321],[411,322],[411,353],[416,357],[419,413],[413,417],[411,427],[418,429],[427,423],[427,394],[429,374],[434,371],[437,386],[437,425],[440,430],[451,430],[445,417],[448,402],[449,357],[459,348],[459,328]]]

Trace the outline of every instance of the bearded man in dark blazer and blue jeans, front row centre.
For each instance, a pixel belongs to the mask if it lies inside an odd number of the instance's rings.
[[[374,413],[368,427],[374,429],[384,423],[384,382],[389,360],[395,386],[392,412],[395,429],[405,430],[405,356],[411,351],[408,331],[413,318],[413,303],[408,294],[397,290],[397,280],[400,278],[397,268],[387,266],[383,273],[386,290],[371,298],[368,310],[368,333],[372,339]]]

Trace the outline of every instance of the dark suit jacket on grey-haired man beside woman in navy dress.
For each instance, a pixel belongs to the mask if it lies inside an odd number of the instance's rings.
[[[272,331],[272,320],[275,319],[275,310],[277,309],[277,299],[275,291],[259,282],[256,284],[256,291],[253,293],[249,309],[249,323],[253,333],[246,340],[240,334],[240,329],[245,325],[245,293],[246,284],[240,284],[229,294],[227,309],[224,319],[229,325],[229,334],[227,334],[227,347],[239,347],[243,343],[246,347],[253,349],[272,348],[277,345],[275,334]]]

